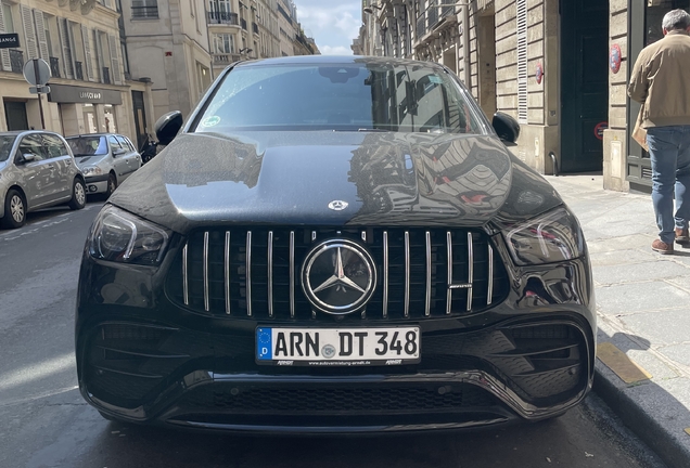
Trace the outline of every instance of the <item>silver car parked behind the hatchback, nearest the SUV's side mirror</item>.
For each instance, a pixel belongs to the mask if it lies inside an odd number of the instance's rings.
[[[111,196],[115,188],[141,167],[141,155],[127,136],[91,133],[67,136],[77,166],[84,172],[88,194]]]

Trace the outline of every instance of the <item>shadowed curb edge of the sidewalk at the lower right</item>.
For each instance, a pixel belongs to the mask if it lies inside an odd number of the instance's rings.
[[[603,365],[599,363],[599,365]],[[670,468],[690,467],[690,451],[674,433],[650,415],[636,399],[617,387],[613,379],[595,367],[593,391],[611,407],[625,426],[642,440]]]

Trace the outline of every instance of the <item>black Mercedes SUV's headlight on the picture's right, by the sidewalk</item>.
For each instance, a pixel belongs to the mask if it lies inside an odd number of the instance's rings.
[[[565,208],[504,227],[503,235],[519,265],[572,260],[585,253],[579,223]]]

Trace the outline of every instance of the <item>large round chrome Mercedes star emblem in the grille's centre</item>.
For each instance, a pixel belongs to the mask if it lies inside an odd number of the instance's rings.
[[[302,265],[302,287],[311,304],[333,315],[361,309],[376,287],[371,255],[347,239],[325,240],[307,255]]]

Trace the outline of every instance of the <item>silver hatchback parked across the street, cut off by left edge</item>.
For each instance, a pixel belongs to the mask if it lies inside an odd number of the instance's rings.
[[[52,205],[86,205],[84,176],[58,133],[0,132],[0,224],[21,227],[26,213]]]

